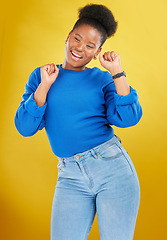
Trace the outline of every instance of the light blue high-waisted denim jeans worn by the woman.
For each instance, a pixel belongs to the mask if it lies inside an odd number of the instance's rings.
[[[132,240],[140,185],[121,140],[58,160],[51,240],[86,240],[96,212],[101,240]]]

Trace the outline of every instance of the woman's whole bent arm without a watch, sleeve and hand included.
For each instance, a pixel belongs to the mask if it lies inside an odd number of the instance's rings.
[[[50,86],[58,76],[57,66],[45,65],[35,69],[25,86],[25,93],[22,96],[15,114],[15,126],[18,132],[25,136],[32,136],[45,126],[45,109],[47,106],[46,97]],[[41,76],[40,76],[41,74]]]

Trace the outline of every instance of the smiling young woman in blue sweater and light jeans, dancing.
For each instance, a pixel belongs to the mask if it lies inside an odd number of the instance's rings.
[[[117,29],[111,11],[89,4],[66,39],[63,64],[29,76],[15,115],[23,136],[45,127],[59,163],[51,239],[85,240],[97,212],[101,240],[132,240],[140,201],[134,165],[111,125],[125,128],[142,116],[120,56],[101,53]],[[99,55],[105,71],[87,64]]]

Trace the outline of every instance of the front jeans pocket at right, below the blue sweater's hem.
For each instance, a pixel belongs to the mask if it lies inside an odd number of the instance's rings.
[[[117,144],[114,143],[112,145],[107,146],[104,149],[99,150],[97,152],[97,155],[102,160],[113,160],[123,155],[123,153],[122,150],[117,146]]]

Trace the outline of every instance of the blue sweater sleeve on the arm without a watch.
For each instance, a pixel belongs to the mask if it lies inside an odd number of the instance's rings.
[[[47,102],[42,107],[39,107],[34,100],[34,93],[40,81],[40,68],[36,68],[29,76],[25,92],[22,95],[23,100],[15,114],[15,126],[24,137],[34,135],[45,126],[44,114]]]

